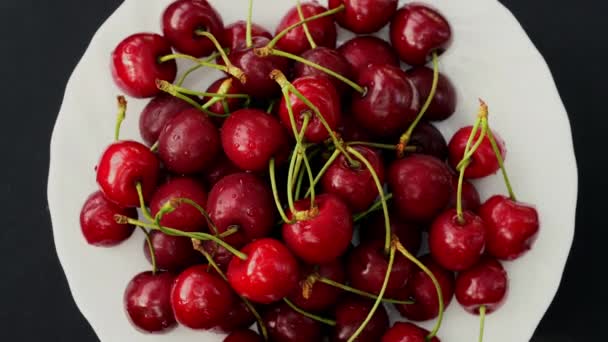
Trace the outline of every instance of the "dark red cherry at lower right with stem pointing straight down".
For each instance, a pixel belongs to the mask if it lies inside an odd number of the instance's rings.
[[[475,266],[458,274],[456,300],[472,314],[479,314],[482,306],[486,307],[486,313],[492,313],[504,303],[508,282],[500,262],[484,256]]]

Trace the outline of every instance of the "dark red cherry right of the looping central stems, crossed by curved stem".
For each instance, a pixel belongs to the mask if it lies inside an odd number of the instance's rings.
[[[366,146],[355,146],[372,165],[384,183],[384,163],[380,153]],[[323,192],[338,196],[355,213],[365,211],[378,197],[378,186],[365,165],[353,167],[341,154],[321,178]]]

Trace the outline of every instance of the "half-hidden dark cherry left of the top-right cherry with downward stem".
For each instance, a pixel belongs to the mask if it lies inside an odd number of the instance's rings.
[[[375,36],[358,36],[342,44],[338,52],[358,74],[370,64],[389,64],[399,67],[399,57],[389,43]]]

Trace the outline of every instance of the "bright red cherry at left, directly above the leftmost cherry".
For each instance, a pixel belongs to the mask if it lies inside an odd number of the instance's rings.
[[[160,163],[136,141],[118,141],[106,148],[97,164],[97,184],[104,196],[121,207],[137,207],[137,183],[148,199],[158,181]]]

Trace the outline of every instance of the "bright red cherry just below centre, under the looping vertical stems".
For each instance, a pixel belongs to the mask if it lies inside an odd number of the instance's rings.
[[[295,255],[311,264],[330,262],[346,252],[353,237],[351,213],[337,196],[322,194],[315,197],[313,213],[294,223],[283,224],[283,240]],[[310,200],[295,204],[297,212],[310,209]],[[295,213],[287,218],[293,220]]]

